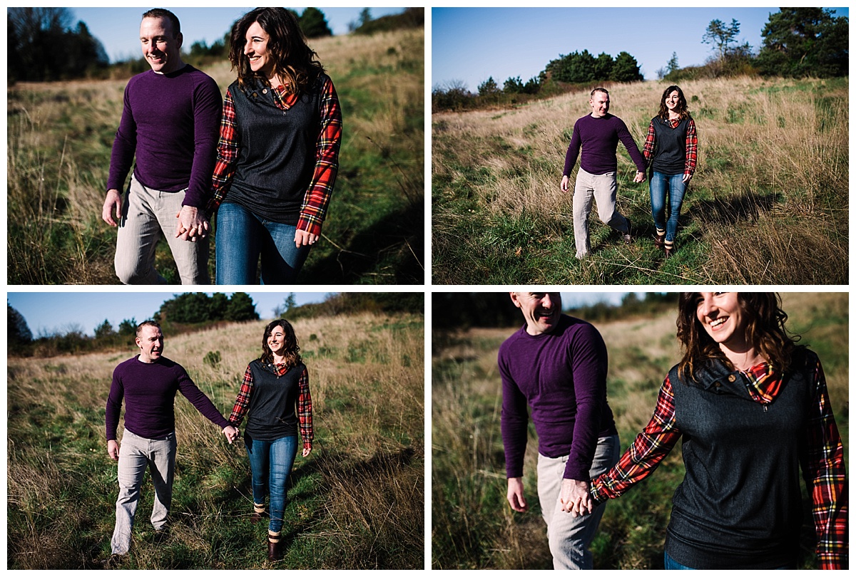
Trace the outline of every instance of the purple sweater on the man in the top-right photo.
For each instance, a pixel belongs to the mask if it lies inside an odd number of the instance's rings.
[[[633,137],[618,116],[607,114],[600,118],[586,115],[574,124],[574,134],[571,136],[571,144],[565,155],[565,169],[563,176],[570,176],[580,156],[580,146],[583,154],[580,157],[580,168],[589,174],[614,173],[618,169],[615,161],[615,151],[618,149],[618,141],[624,144],[630,158],[640,173],[645,172],[645,158],[636,147]]]

